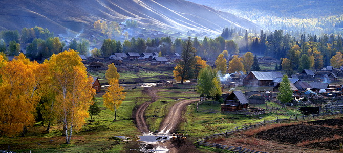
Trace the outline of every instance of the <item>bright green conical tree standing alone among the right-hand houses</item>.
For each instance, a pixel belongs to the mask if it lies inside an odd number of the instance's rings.
[[[280,100],[281,103],[290,103],[292,101],[292,95],[290,81],[288,80],[288,76],[284,75],[278,88],[277,100]]]

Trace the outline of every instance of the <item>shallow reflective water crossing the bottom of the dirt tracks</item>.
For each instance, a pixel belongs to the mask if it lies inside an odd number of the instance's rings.
[[[166,138],[166,139],[164,139]],[[168,152],[169,149],[163,144],[165,141],[170,140],[171,134],[143,134],[139,136],[139,141],[141,141],[140,152]]]

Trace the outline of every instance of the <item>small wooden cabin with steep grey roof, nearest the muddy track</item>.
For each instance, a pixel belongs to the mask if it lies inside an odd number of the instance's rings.
[[[242,91],[232,91],[221,105],[221,111],[235,111],[248,108],[249,102]]]

